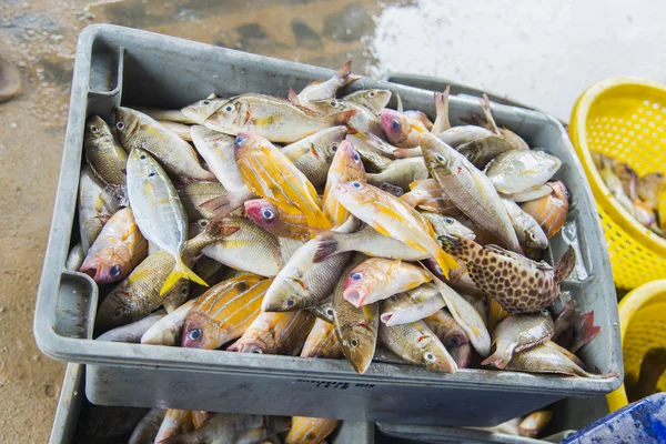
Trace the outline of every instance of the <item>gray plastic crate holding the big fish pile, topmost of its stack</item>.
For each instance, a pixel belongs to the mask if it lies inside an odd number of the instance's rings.
[[[263,92],[284,97],[333,71],[108,24],[79,38],[70,115],[51,235],[34,316],[34,335],[49,356],[88,364],[85,393],[102,405],[172,406],[337,417],[363,422],[494,425],[567,395],[596,395],[622,382],[617,304],[608,253],[583,169],[562,125],[528,110],[494,105],[497,123],[564,162],[558,172],[572,193],[572,210],[555,256],[577,238],[578,265],[563,283],[584,311],[596,312],[602,333],[583,349],[589,369],[619,376],[575,379],[487,370],[440,374],[412,365],[373,363],[357,375],[345,361],[307,360],[141,344],[94,342],[98,286],[64,271],[74,224],[85,118],[111,119],[119,103],[181,108],[211,92]],[[432,92],[363,79],[347,91],[387,88],[407,109],[434,114]],[[392,101],[395,105],[395,100]],[[475,100],[451,98],[451,118],[474,111]]]

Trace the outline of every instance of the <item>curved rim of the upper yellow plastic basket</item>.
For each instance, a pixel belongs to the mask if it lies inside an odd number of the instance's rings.
[[[602,179],[594,164],[589,147],[587,145],[586,122],[587,114],[598,98],[608,90],[625,87],[643,87],[656,89],[666,95],[666,84],[637,77],[613,77],[594,83],[587,88],[576,101],[572,111],[569,137],[583,168],[587,173],[593,194],[597,204],[613,221],[627,232],[634,241],[648,249],[650,252],[666,259],[666,239],[643,226],[610,195],[610,191]]]

